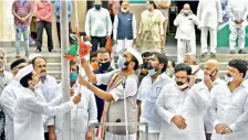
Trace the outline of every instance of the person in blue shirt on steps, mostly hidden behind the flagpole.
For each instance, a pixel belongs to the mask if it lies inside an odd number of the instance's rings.
[[[61,35],[60,35],[61,34],[61,32],[60,32],[60,0],[56,0],[55,3],[54,3],[54,12],[55,12],[55,17],[56,17],[56,33],[58,33],[58,37],[59,37],[59,42],[60,42],[60,46],[61,46]],[[72,1],[71,0],[68,0],[69,34],[72,33],[72,28],[71,28],[72,12],[73,12]]]

